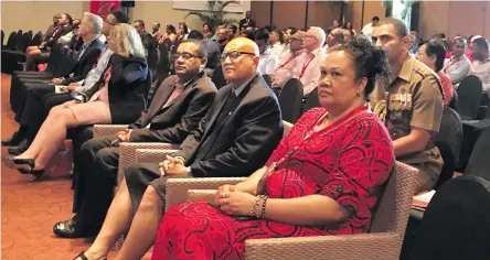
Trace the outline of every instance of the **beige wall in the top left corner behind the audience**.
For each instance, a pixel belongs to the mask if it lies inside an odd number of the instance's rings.
[[[53,21],[54,13],[67,12],[74,19],[82,18],[83,12],[89,9],[88,2],[54,2],[54,1],[1,1],[1,29],[8,35],[12,31],[22,29],[34,33],[46,31]]]

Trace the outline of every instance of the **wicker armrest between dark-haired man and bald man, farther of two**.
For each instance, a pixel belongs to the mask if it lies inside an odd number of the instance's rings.
[[[177,149],[179,144],[162,142],[121,142],[119,143],[119,166],[117,171],[117,183],[122,181],[124,170],[138,161],[136,151],[138,149]],[[163,156],[164,158],[164,156]]]

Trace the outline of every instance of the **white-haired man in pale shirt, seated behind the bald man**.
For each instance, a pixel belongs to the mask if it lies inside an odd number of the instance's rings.
[[[326,40],[323,29],[311,26],[302,40],[305,53],[296,66],[295,78],[302,84],[302,95],[307,97],[318,86],[320,79],[320,64],[326,54],[322,45]]]

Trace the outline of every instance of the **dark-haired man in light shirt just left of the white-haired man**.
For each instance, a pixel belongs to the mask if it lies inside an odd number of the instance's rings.
[[[303,53],[302,40],[305,31],[298,31],[290,37],[289,50],[279,61],[279,66],[273,75],[273,88],[283,88],[287,80],[295,76],[296,67],[300,66]]]

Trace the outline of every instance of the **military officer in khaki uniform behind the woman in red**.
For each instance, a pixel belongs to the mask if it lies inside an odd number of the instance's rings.
[[[380,21],[373,39],[387,52],[392,77],[390,84],[375,86],[370,106],[390,131],[396,160],[418,169],[416,193],[430,191],[444,164],[434,142],[443,116],[440,79],[408,54],[409,37],[402,21]]]

